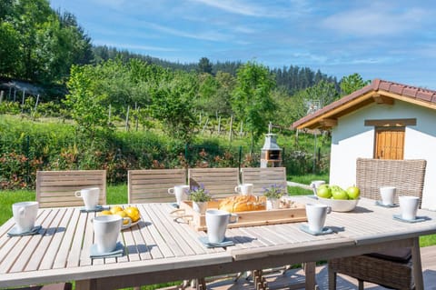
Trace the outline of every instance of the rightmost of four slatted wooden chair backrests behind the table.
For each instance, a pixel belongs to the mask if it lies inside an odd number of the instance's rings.
[[[253,184],[253,195],[262,195],[263,189],[271,185],[282,185],[288,192],[285,167],[246,167],[241,172],[243,184]]]

